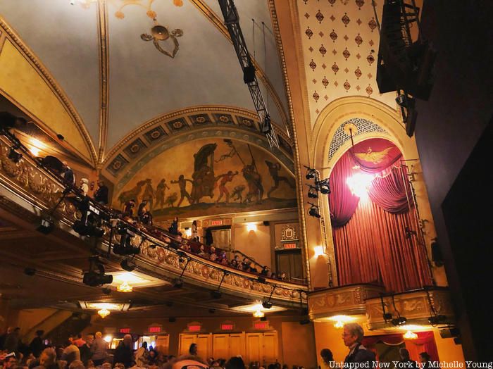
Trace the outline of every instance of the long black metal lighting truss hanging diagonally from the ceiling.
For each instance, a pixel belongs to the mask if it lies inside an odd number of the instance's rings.
[[[267,111],[266,103],[263,101],[261,89],[258,86],[257,77],[255,75],[255,67],[251,62],[248,49],[246,49],[242,28],[239,27],[239,16],[235,3],[232,0],[218,1],[221,11],[223,12],[224,23],[227,27],[227,31],[230,32],[231,41],[233,46],[235,46],[239,64],[242,66],[243,80],[248,86],[251,99],[254,101],[258,118],[260,118],[261,121],[261,131],[266,134],[270,147],[272,148],[275,146],[278,148],[279,142],[277,142],[277,135],[275,135],[270,123],[270,115]]]

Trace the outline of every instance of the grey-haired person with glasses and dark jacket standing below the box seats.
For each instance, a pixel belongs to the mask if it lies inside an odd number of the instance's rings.
[[[375,368],[375,354],[361,344],[363,328],[358,323],[344,324],[342,340],[349,347],[349,354],[344,359],[344,368],[351,368],[351,363],[368,363],[365,368]]]

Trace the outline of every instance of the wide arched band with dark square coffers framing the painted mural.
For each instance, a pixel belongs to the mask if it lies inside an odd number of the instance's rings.
[[[286,168],[294,173],[291,140],[282,130],[277,130],[279,148],[270,148],[260,132],[255,113],[238,108],[197,106],[163,115],[134,130],[120,141],[104,162],[104,174],[117,177],[123,186],[136,171],[170,147],[196,138],[223,137],[242,139],[261,146],[274,154]],[[133,167],[130,163],[135,161]]]

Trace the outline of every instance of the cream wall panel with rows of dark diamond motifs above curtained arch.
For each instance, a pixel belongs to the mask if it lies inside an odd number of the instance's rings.
[[[331,101],[368,96],[396,108],[396,94],[378,92],[380,35],[370,0],[297,1],[311,123]],[[382,15],[383,1],[377,1]]]

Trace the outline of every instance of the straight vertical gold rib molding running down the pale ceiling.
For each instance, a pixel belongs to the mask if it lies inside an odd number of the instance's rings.
[[[108,62],[108,6],[106,0],[99,0],[97,6],[98,15],[98,40],[99,40],[99,151],[97,167],[101,168],[108,137],[108,104],[109,85],[108,78],[110,66]]]

